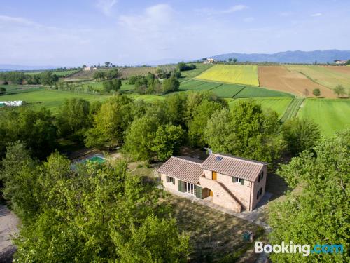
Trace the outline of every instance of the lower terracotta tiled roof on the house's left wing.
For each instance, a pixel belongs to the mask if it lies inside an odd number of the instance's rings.
[[[190,157],[171,157],[158,169],[159,173],[164,173],[180,180],[198,184],[200,175],[203,174],[202,161]]]

